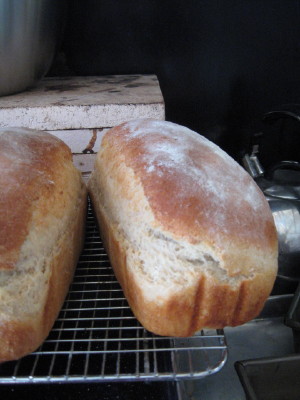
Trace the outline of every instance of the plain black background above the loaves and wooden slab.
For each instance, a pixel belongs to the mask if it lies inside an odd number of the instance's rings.
[[[297,159],[300,123],[282,138],[262,116],[300,104],[299,17],[299,0],[71,0],[60,62],[69,75],[154,73],[167,120],[237,160],[259,131],[267,163]]]

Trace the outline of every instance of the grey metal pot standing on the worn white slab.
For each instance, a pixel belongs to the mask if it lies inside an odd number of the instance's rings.
[[[0,96],[35,85],[50,69],[64,0],[0,0]]]

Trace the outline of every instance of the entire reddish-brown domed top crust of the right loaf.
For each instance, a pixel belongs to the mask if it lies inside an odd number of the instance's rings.
[[[205,241],[221,255],[229,276],[249,275],[249,267],[277,268],[276,228],[263,193],[211,141],[170,122],[136,120],[110,130],[106,148],[140,180],[161,229],[191,244]],[[249,266],[245,251],[254,258],[255,252],[271,255],[272,261]]]

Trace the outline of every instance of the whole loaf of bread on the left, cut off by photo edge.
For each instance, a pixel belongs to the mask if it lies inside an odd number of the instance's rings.
[[[34,351],[62,307],[84,240],[86,187],[46,132],[0,130],[0,362]]]

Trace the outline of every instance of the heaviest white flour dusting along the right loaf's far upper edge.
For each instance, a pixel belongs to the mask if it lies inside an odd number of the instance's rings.
[[[135,120],[126,124],[127,141],[143,141],[145,172],[182,175],[182,193],[197,194],[199,189],[211,194],[211,200],[232,200],[232,188],[241,199],[256,207],[261,204],[256,185],[248,174],[220,147],[188,128],[166,121]],[[157,134],[159,132],[159,135]],[[200,150],[199,145],[201,145]],[[210,160],[210,162],[207,162]],[[244,181],[249,180],[245,190]],[[216,198],[217,197],[217,198]]]

